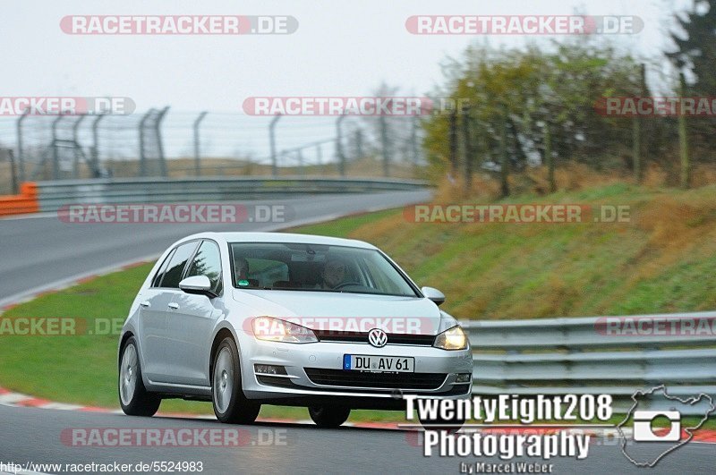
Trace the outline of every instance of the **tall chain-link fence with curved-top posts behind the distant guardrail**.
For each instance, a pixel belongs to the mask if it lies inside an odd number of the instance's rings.
[[[0,120],[19,182],[222,175],[420,176],[416,116],[175,112],[22,115]],[[0,162],[0,192],[12,170]]]

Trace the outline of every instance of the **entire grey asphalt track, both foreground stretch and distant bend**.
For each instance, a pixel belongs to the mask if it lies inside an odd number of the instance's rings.
[[[292,199],[293,224],[423,201],[427,191]],[[261,203],[289,204],[286,200]],[[102,267],[158,254],[188,233],[211,230],[269,231],[287,224],[69,225],[56,216],[0,220],[0,301]],[[0,362],[2,364],[2,362]],[[0,463],[202,462],[204,473],[458,473],[460,462],[497,458],[424,457],[404,431],[299,424],[234,426],[250,435],[241,446],[83,447],[61,438],[72,428],[226,428],[216,420],[131,418],[124,415],[56,411],[0,405]],[[285,442],[263,445],[267,434]],[[261,439],[260,437],[264,437]],[[533,462],[532,460],[529,462]],[[583,461],[553,459],[555,473],[712,473],[714,445],[688,444],[654,469],[637,469],[615,445],[592,445]],[[37,470],[37,467],[35,467]],[[62,471],[62,470],[59,470]],[[51,471],[55,472],[55,471]]]

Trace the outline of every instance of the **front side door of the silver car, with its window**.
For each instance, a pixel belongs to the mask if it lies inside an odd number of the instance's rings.
[[[211,331],[224,312],[221,252],[216,242],[204,240],[189,264],[185,277],[207,276],[219,297],[175,293],[167,319],[169,377],[176,384],[209,386]]]

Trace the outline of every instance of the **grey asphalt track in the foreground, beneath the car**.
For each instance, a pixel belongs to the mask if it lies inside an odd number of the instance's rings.
[[[370,428],[320,429],[298,424],[225,426],[216,420],[135,418],[124,415],[0,406],[0,462],[202,462],[204,473],[458,473],[473,456],[425,457],[407,432]],[[225,447],[73,446],[71,428],[238,428],[245,445]],[[274,432],[277,431],[277,432]],[[260,432],[263,433],[260,436]],[[275,436],[267,436],[267,433]],[[248,437],[250,435],[251,437]],[[260,443],[270,437],[281,444]],[[551,459],[553,473],[712,473],[713,445],[689,444],[654,469],[637,469],[615,445],[592,445],[589,456]],[[479,462],[503,462],[481,458]],[[533,462],[533,461],[531,461]]]

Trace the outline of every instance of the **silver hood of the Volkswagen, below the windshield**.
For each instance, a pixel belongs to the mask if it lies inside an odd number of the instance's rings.
[[[243,289],[234,289],[233,297],[254,317],[288,319],[314,330],[362,332],[381,327],[388,333],[437,335],[454,322],[425,298]]]

